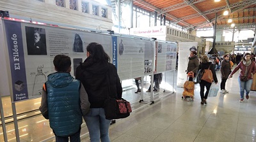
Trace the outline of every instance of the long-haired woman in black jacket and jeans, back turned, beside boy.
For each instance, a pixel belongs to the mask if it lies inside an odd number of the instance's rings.
[[[103,104],[108,97],[121,99],[122,85],[116,67],[109,63],[110,58],[102,45],[90,43],[86,50],[87,58],[76,69],[76,79],[83,83],[91,104],[88,114],[83,117],[90,141],[109,142],[111,120],[106,119]]]

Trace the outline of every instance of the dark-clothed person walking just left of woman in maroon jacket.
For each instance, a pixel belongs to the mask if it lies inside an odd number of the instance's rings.
[[[229,55],[225,54],[223,56],[223,61],[221,62],[221,68],[220,68],[220,72],[221,72],[221,83],[220,83],[220,89],[221,89],[221,93],[225,94],[228,93],[228,91],[225,89],[226,86],[226,82],[228,79],[228,75],[230,74],[230,60],[229,60]]]

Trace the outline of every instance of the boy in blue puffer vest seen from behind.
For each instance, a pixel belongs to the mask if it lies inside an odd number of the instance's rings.
[[[67,55],[56,55],[56,73],[48,75],[44,83],[40,111],[49,119],[56,142],[80,141],[81,124],[90,109],[88,95],[79,80],[71,75],[71,60]]]

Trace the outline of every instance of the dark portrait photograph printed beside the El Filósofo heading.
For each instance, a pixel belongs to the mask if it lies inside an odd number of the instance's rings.
[[[47,55],[45,29],[25,27],[28,55]]]

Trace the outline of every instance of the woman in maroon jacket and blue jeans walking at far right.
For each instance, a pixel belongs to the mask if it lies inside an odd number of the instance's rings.
[[[243,60],[235,67],[232,73],[229,75],[229,78],[232,78],[234,73],[238,69],[241,69],[240,75],[238,78],[239,88],[240,88],[240,103],[244,101],[244,90],[246,91],[246,99],[249,99],[249,93],[252,86],[252,78],[256,73],[256,64],[250,59],[250,53],[245,53]]]

